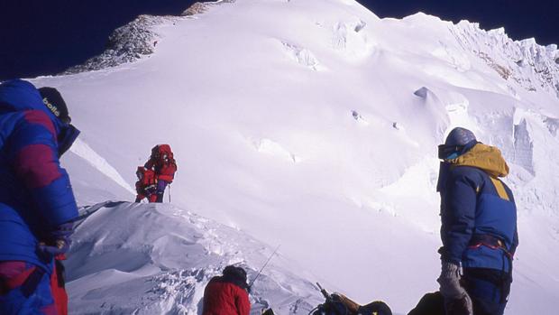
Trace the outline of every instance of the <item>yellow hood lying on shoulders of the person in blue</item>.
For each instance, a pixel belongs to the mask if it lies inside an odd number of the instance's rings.
[[[505,162],[500,150],[486,144],[475,144],[467,153],[447,162],[457,166],[477,167],[487,171],[493,177],[509,175],[509,165]]]

